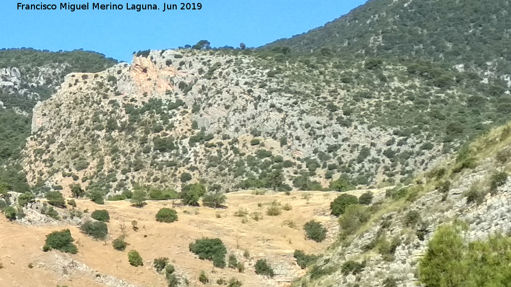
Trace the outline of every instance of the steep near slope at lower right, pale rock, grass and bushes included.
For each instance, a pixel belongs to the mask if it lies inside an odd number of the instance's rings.
[[[347,207],[338,242],[295,286],[505,286],[510,163],[506,125],[383,202]]]

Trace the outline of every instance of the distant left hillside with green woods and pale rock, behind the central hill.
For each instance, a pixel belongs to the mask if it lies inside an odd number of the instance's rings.
[[[0,182],[15,189],[28,189],[20,173],[20,151],[30,135],[32,109],[46,100],[72,72],[104,70],[117,63],[104,55],[84,52],[38,51],[33,49],[0,50]]]

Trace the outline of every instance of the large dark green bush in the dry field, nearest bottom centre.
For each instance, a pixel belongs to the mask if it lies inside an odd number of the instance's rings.
[[[198,239],[195,243],[190,243],[189,249],[192,253],[197,254],[199,259],[212,260],[215,267],[225,267],[227,249],[219,238]]]

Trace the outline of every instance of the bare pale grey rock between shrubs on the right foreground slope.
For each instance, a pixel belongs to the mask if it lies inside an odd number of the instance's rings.
[[[406,211],[419,211],[422,220],[426,223],[429,233],[421,241],[415,234],[419,226],[406,226],[405,216],[407,212],[392,212],[385,214],[383,218],[391,218],[388,228],[381,227],[381,222],[364,232],[349,246],[338,247],[323,259],[328,258],[329,263],[324,261],[325,266],[341,266],[347,260],[366,260],[366,267],[358,274],[343,275],[340,270],[323,277],[317,286],[328,282],[337,282],[336,286],[375,286],[382,285],[383,280],[393,277],[399,280],[398,286],[417,285],[417,266],[420,258],[427,249],[427,244],[436,228],[442,224],[454,220],[468,223],[468,231],[463,234],[467,242],[484,240],[487,236],[495,233],[507,233],[511,230],[511,183],[498,187],[495,195],[488,194],[481,205],[467,203],[465,193],[472,185],[483,182],[490,175],[489,170],[493,166],[493,159],[481,163],[474,172],[466,173],[455,182],[449,191],[448,199],[442,200],[442,194],[437,190],[430,192],[414,202]],[[393,259],[386,261],[380,254],[368,254],[364,248],[369,246],[380,234],[385,234],[390,240],[393,237],[400,238],[401,244],[393,254]]]

